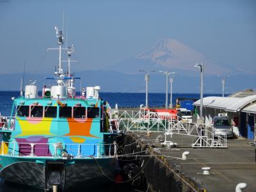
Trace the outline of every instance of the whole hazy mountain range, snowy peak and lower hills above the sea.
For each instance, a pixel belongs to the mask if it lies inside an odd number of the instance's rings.
[[[144,74],[139,73],[139,70],[156,70],[156,73],[150,74],[148,89],[149,92],[160,93],[165,92],[165,77],[157,71],[168,70],[179,74],[175,77],[173,92],[199,93],[199,70],[193,66],[201,62],[205,64],[205,93],[221,92],[221,79],[217,75],[230,75],[226,81],[226,93],[246,88],[256,89],[255,71],[248,72],[242,68],[223,65],[171,38],[161,38],[154,46],[111,67],[76,72],[76,76],[82,77],[83,87],[100,85],[102,92],[145,92]],[[22,73],[2,74],[0,82],[8,83],[1,83],[0,90],[19,90],[22,76]],[[29,79],[37,80],[39,87],[42,87],[40,81],[45,76],[46,74],[26,73],[25,82]]]

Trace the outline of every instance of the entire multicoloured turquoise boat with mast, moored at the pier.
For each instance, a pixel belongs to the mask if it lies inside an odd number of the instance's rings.
[[[76,95],[70,73],[70,54],[63,49],[62,31],[56,29],[60,52],[56,82],[38,96],[35,83],[13,98],[11,117],[1,117],[0,176],[5,181],[51,190],[78,184],[100,184],[118,168],[117,131],[109,126],[109,104],[99,98],[99,86]],[[49,49],[52,50],[52,49]],[[61,68],[61,51],[68,53],[68,72]],[[102,177],[102,179],[100,179]],[[105,177],[105,178],[103,178]]]

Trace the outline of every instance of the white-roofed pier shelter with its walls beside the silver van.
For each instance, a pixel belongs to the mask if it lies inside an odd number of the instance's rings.
[[[193,104],[197,111],[200,100]],[[255,138],[256,95],[247,97],[205,97],[203,99],[203,117],[205,124],[211,124],[212,118],[219,113],[227,113],[235,134],[246,138]]]

